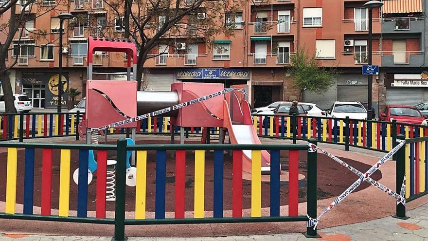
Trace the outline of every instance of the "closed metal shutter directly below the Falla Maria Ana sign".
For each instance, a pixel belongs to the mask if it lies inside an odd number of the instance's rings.
[[[387,105],[416,105],[422,102],[422,88],[392,87],[386,89]]]

